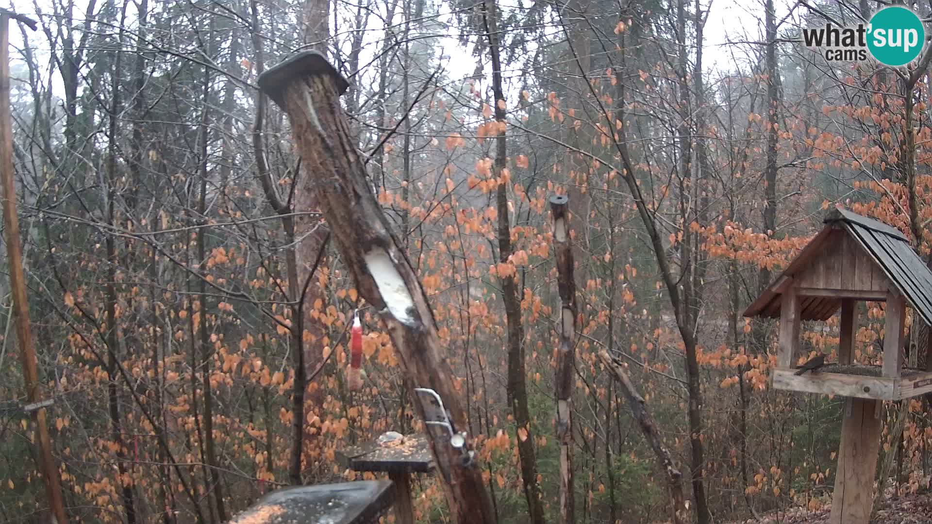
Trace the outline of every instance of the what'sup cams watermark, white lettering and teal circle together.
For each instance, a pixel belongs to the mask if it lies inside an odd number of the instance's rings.
[[[916,13],[906,7],[884,7],[870,17],[870,23],[802,30],[806,48],[829,62],[877,62],[898,67],[912,62],[925,47],[925,27]]]

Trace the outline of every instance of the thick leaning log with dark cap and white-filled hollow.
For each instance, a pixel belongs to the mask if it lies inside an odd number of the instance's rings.
[[[459,438],[468,428],[466,415],[427,296],[372,194],[350,137],[339,103],[347,80],[320,53],[305,51],[268,69],[258,83],[291,120],[303,175],[315,184],[321,211],[360,295],[378,311],[408,375],[440,395],[451,429],[459,432],[454,439],[444,427],[425,424],[451,513],[460,523],[495,522],[473,460],[473,436],[465,434],[465,443]],[[412,393],[422,419],[432,410],[423,398]]]

